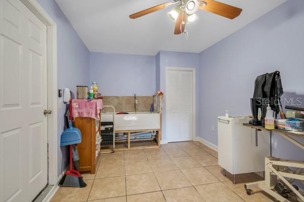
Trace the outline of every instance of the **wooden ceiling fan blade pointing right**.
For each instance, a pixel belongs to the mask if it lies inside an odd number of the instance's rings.
[[[233,7],[233,6],[223,4],[220,2],[216,2],[213,0],[203,0],[200,2],[202,2],[202,4],[200,4],[199,9],[209,11],[211,13],[214,13],[214,14],[217,14],[217,15],[223,16],[225,18],[229,18],[229,19],[234,19],[234,18],[238,17],[242,12],[242,9],[240,9],[240,8]],[[203,3],[206,3],[206,5],[203,6]]]

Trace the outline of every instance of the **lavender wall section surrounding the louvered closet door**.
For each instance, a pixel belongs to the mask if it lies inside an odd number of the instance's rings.
[[[159,56],[158,56],[159,55]],[[157,55],[159,64],[159,87],[166,96],[166,67],[187,67],[196,69],[196,112],[199,111],[199,54],[160,51]],[[158,84],[157,84],[158,85]],[[199,134],[199,115],[196,114],[196,134]],[[166,140],[166,104],[163,105],[163,140]]]

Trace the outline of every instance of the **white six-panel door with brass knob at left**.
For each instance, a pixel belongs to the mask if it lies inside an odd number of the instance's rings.
[[[0,0],[0,201],[31,201],[47,185],[46,26]]]

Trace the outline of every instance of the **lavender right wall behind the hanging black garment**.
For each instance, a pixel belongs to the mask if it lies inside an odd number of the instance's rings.
[[[251,114],[249,98],[257,75],[279,70],[285,96],[304,94],[303,21],[304,1],[289,0],[200,54],[202,138],[217,145],[217,130],[211,126],[225,110],[231,115]],[[273,155],[304,160],[302,150],[278,135]]]

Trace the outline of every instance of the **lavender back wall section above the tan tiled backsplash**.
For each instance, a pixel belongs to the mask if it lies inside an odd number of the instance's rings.
[[[155,75],[154,56],[90,54],[90,81],[103,95],[153,95]]]

